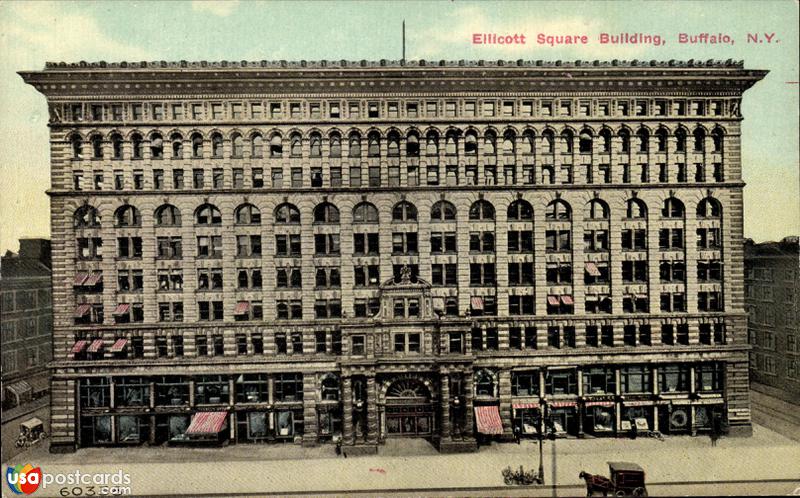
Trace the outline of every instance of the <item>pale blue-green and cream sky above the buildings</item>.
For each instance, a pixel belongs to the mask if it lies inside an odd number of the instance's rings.
[[[49,236],[45,99],[16,74],[46,61],[399,59],[744,60],[770,73],[745,93],[745,236],[800,234],[798,1],[256,2],[0,0],[0,251]],[[667,42],[609,46],[600,33]],[[525,34],[525,45],[473,45],[473,33]],[[538,33],[586,34],[584,46],[538,45]],[[727,34],[686,45],[679,33]],[[775,33],[747,43],[747,33]],[[762,35],[763,38],[763,35]],[[793,82],[793,83],[792,83]]]

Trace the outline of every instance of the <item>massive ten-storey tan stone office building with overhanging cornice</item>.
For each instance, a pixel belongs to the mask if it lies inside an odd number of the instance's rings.
[[[741,62],[49,63],[53,451],[751,431]],[[516,429],[515,429],[516,428]]]

